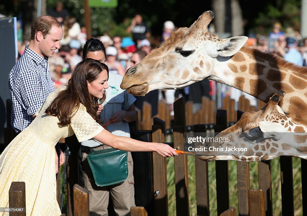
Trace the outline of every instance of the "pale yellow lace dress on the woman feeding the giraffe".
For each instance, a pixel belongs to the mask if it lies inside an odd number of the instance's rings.
[[[45,113],[46,108],[62,86],[52,92],[37,117],[6,147],[0,155],[0,207],[9,207],[9,190],[12,182],[25,182],[26,215],[61,215],[56,201],[56,174],[54,146],[62,137],[76,134],[79,142],[99,134],[103,127],[80,108],[64,127],[57,125],[58,118]],[[9,215],[0,212],[0,215]]]

